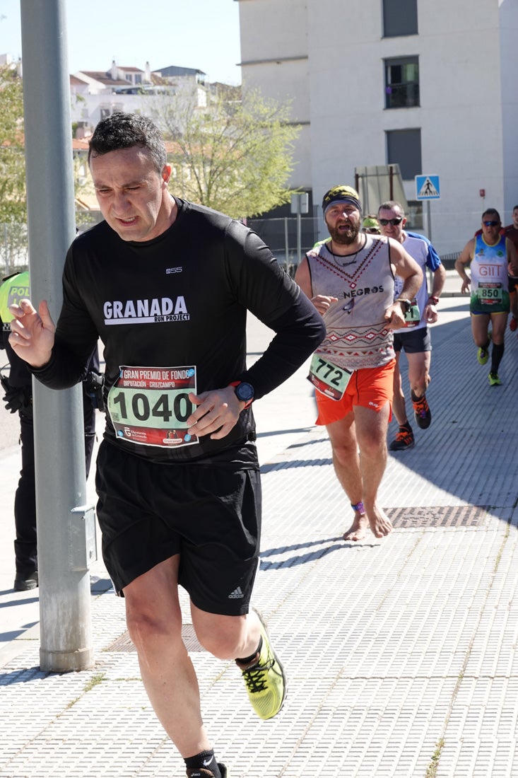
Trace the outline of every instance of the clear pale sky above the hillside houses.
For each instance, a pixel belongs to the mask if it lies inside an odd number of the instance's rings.
[[[33,0],[21,0],[33,2]],[[42,2],[42,0],[39,0]],[[0,0],[0,54],[22,56],[20,0]],[[210,81],[241,82],[236,0],[65,0],[68,70],[117,65],[198,68]]]

